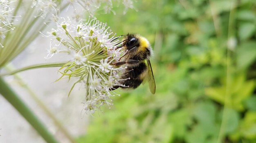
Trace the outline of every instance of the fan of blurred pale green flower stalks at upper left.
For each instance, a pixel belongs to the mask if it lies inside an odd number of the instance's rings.
[[[9,22],[13,29],[5,32],[5,37],[0,39],[2,44],[2,48],[0,48],[0,67],[22,52],[40,34],[39,31],[46,27],[45,21],[52,14],[56,14],[56,11],[54,13],[48,11],[47,15],[49,16],[45,19],[42,15],[38,15],[38,10],[32,4],[31,0],[17,0],[10,3],[10,7],[14,7],[12,9],[14,11],[13,15],[9,15],[9,17],[12,17]]]

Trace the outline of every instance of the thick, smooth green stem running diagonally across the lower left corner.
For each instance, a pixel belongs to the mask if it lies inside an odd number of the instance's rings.
[[[58,143],[58,141],[47,131],[47,128],[33,114],[27,105],[18,97],[18,95],[9,87],[9,85],[0,78],[0,94],[16,108],[16,110],[33,126],[47,143]]]

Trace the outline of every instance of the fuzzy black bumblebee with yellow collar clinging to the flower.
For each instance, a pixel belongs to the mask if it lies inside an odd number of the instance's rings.
[[[121,75],[121,78],[126,80],[120,81],[125,87],[114,86],[110,90],[115,90],[119,87],[135,89],[147,79],[150,92],[155,94],[155,79],[150,64],[150,56],[152,55],[150,43],[146,38],[137,34],[128,33],[127,35],[121,36],[124,36],[124,39],[121,42],[122,44],[117,48],[123,47],[127,52],[119,59],[119,62],[113,65],[127,66],[127,71]]]

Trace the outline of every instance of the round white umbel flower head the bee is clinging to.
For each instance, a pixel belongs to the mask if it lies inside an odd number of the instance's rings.
[[[124,54],[122,48],[117,48],[120,42],[107,24],[96,18],[79,22],[71,22],[69,18],[63,17],[60,20],[58,28],[48,32],[54,39],[45,58],[63,52],[72,54],[72,59],[59,69],[62,76],[58,80],[77,78],[70,92],[77,83],[81,83],[86,89],[83,102],[85,111],[101,111],[103,104],[112,105],[111,97],[118,95],[111,88],[115,85],[125,87],[119,83],[125,80],[120,79],[119,75],[126,67],[112,64]]]

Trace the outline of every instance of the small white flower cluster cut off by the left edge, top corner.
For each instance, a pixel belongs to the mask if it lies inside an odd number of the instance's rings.
[[[10,13],[13,11],[13,9],[10,7],[10,4],[13,1],[8,0],[0,0],[0,38],[5,38],[5,32],[9,30],[13,30],[12,27],[13,20]],[[0,43],[1,47],[3,45]]]

